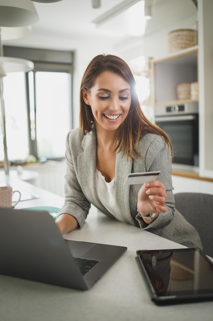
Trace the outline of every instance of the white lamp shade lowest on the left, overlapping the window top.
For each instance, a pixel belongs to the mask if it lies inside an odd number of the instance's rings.
[[[0,57],[1,69],[5,72],[28,72],[34,69],[34,64],[30,60],[14,58],[14,57]]]

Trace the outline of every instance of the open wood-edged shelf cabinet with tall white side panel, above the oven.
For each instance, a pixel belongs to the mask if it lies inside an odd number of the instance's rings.
[[[193,101],[177,99],[179,83],[199,84],[199,175],[213,178],[213,36],[212,0],[198,0],[198,46],[153,61],[152,103],[158,106]]]

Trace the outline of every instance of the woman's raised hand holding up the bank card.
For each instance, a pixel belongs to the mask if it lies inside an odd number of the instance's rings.
[[[165,200],[167,193],[164,185],[160,180],[153,180],[153,182],[145,183],[138,192],[137,209],[141,215],[148,215],[149,213],[164,213]]]

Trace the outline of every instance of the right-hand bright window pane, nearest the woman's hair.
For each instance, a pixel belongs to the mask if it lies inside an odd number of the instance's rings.
[[[67,72],[29,72],[31,154],[37,158],[64,157],[72,119],[71,88]]]

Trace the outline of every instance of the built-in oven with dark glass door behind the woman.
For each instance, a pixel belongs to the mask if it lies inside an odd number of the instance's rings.
[[[174,148],[174,164],[199,166],[198,102],[155,107],[155,123]]]

